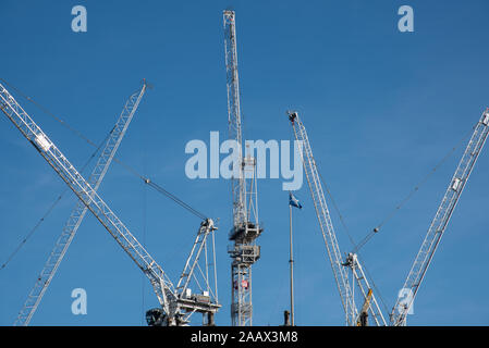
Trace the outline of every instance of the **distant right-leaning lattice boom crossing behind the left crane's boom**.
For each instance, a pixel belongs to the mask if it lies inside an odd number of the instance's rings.
[[[127,99],[118,122],[110,132],[105,148],[101,151],[100,157],[98,158],[97,164],[95,165],[90,177],[88,178],[88,183],[95,191],[97,191],[97,189],[99,188],[145,91],[146,82],[144,82],[143,87],[138,91],[131,95],[131,97]],[[83,201],[78,200],[76,206],[72,210],[70,217],[68,219],[60,237],[58,238],[48,260],[46,261],[45,266],[36,281],[36,284],[30,290],[27,300],[24,303],[24,307],[20,311],[14,325],[27,326],[29,324],[30,319],[36,312],[36,309],[39,306],[42,296],[48,289],[49,284],[51,283],[61,261],[63,260],[63,257],[66,253],[66,250],[76,234],[76,231],[82,224],[87,210],[88,209],[83,203]]]

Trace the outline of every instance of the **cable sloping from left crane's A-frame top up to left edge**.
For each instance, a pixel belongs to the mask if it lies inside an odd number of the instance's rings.
[[[32,102],[33,104],[35,104],[37,108],[39,108],[39,110],[41,110],[44,113],[46,113],[47,115],[51,116],[53,120],[56,120],[57,122],[59,122],[61,125],[63,125],[65,128],[68,128],[69,130],[71,130],[73,134],[75,134],[77,137],[80,137],[81,139],[85,140],[88,145],[93,146],[93,147],[97,147],[97,145],[91,141],[88,137],[86,137],[82,132],[77,130],[76,128],[74,128],[73,126],[71,126],[68,122],[63,121],[62,119],[58,117],[57,115],[54,115],[52,112],[50,112],[47,108],[42,107],[39,102],[35,101],[33,98],[30,98],[29,96],[27,96],[26,94],[22,92],[19,88],[12,86],[11,84],[7,83],[3,78],[0,77],[0,80],[2,83],[4,83],[5,85],[8,85],[11,89],[15,90],[19,95],[21,95],[22,97],[24,97],[27,101]],[[98,146],[100,147],[100,146]],[[208,215],[197,211],[196,209],[194,209],[193,207],[191,207],[190,204],[185,203],[183,200],[181,200],[180,198],[178,198],[175,195],[171,194],[170,191],[168,191],[167,189],[164,189],[163,187],[161,187],[160,185],[158,185],[157,183],[152,182],[149,177],[139,174],[134,167],[130,166],[129,164],[122,162],[121,160],[119,160],[118,158],[113,158],[113,161],[115,163],[118,163],[119,165],[121,165],[123,169],[125,169],[127,172],[132,173],[134,176],[138,177],[139,179],[142,179],[146,185],[148,185],[149,187],[154,188],[155,190],[157,190],[158,192],[160,192],[161,195],[170,198],[172,201],[174,201],[175,203],[178,203],[179,206],[181,206],[182,208],[184,208],[185,210],[187,210],[188,212],[191,212],[192,214],[194,214],[195,216],[199,217],[200,220],[206,220]]]

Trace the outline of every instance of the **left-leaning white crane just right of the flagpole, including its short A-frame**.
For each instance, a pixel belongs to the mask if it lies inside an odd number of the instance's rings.
[[[340,246],[331,222],[319,172],[313,156],[313,149],[309,144],[306,128],[299,120],[297,112],[288,112],[288,115],[294,130],[295,139],[299,141],[303,147],[301,157],[304,165],[304,172],[306,174],[307,184],[313,197],[316,215],[319,222],[319,228],[325,240],[334,281],[340,293],[345,312],[346,324],[354,326],[358,321],[358,310],[355,304],[354,287],[350,284],[347,269],[352,271],[354,282],[360,290],[359,294],[363,298],[363,302],[367,301],[369,296],[368,291],[371,289],[371,286],[363,271],[357,254],[349,253],[345,261],[342,259]],[[368,311],[371,313],[369,316],[374,320],[375,324],[387,325],[374,294],[370,294],[368,302],[370,302]]]

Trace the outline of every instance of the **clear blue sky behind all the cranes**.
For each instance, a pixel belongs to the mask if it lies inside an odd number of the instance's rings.
[[[71,30],[71,9],[88,12]],[[398,9],[414,9],[414,33]],[[142,78],[154,85],[118,157],[198,210],[220,217],[216,321],[230,324],[231,192],[224,179],[185,176],[192,139],[227,135],[222,10],[236,11],[245,137],[291,139],[285,110],[305,123],[349,232],[359,240],[470,130],[489,107],[487,1],[11,1],[0,2],[1,78],[99,142]],[[12,91],[13,92],[13,91]],[[14,94],[14,92],[13,92]],[[77,167],[93,149],[32,103],[26,111]],[[64,184],[0,117],[0,261]],[[362,250],[388,309],[395,301],[465,142]],[[486,149],[415,301],[414,325],[488,325]],[[278,325],[289,306],[289,209],[280,179],[258,183],[265,233],[253,270],[254,324]],[[100,196],[176,282],[199,224],[113,164]],[[340,297],[306,185],[294,212],[296,323],[343,325]],[[0,271],[0,324],[10,325],[75,202],[58,204]],[[147,207],[147,209],[144,209]],[[332,207],[330,207],[331,210]],[[342,252],[352,246],[333,213]],[[144,228],[146,226],[146,228]],[[88,314],[71,313],[73,288]],[[144,325],[149,283],[91,216],[78,231],[33,325]]]

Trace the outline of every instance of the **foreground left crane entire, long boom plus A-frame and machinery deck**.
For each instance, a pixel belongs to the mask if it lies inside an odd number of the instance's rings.
[[[134,261],[134,264],[147,276],[159,302],[158,308],[147,312],[146,318],[148,319],[148,324],[169,326],[186,325],[190,323],[190,316],[195,312],[204,314],[204,323],[208,319],[207,323],[209,325],[213,324],[213,314],[222,306],[219,304],[217,299],[217,290],[213,291],[211,288],[211,286],[217,288],[217,277],[215,278],[215,284],[210,284],[208,277],[208,252],[205,247],[207,245],[207,237],[210,236],[212,238],[211,252],[212,254],[215,253],[213,232],[217,227],[212,219],[206,219],[200,222],[194,247],[175,287],[163,268],[149,254],[145,247],[97,194],[96,189],[85,181],[76,167],[1,84],[0,109],[22,136],[35,147],[39,156],[46,160],[58,176],[113,237],[114,241],[122,248],[126,256]],[[203,250],[204,256],[200,258]],[[213,257],[212,259],[215,268],[216,258]],[[203,268],[200,268],[200,264]],[[194,270],[198,271],[197,274],[194,273]],[[206,272],[201,272],[201,270],[206,270]],[[217,274],[216,270],[213,274]],[[182,294],[188,294],[186,289],[193,281],[191,277],[194,275],[199,276],[200,281],[204,282],[200,283],[203,286],[198,286],[199,290],[204,291],[207,289],[209,295],[205,295],[205,298],[192,297],[192,299],[185,298],[183,300]]]

